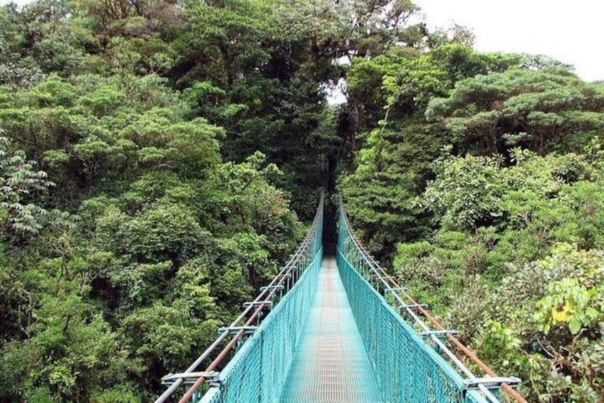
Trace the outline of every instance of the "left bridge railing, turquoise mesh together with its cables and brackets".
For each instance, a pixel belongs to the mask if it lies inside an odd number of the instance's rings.
[[[168,374],[168,389],[155,401],[166,402],[181,386],[187,386],[179,403],[276,402],[300,340],[303,312],[311,304],[323,257],[323,200],[321,195],[311,229],[285,266],[269,285],[261,287],[254,301],[182,374]],[[227,342],[227,340],[229,340]],[[227,342],[203,372],[204,360]],[[231,356],[232,351],[236,353]],[[224,369],[217,371],[219,366]],[[207,387],[200,388],[203,384]],[[207,391],[202,396],[202,389]]]

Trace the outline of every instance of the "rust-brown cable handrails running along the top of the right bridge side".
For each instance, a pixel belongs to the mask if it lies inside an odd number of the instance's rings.
[[[415,298],[412,297],[410,292],[407,292],[405,290],[405,288],[400,287],[398,282],[394,278],[392,278],[391,275],[389,275],[386,272],[384,267],[382,267],[377,262],[377,260],[375,260],[375,258],[372,255],[370,255],[370,253],[365,248],[363,243],[360,243],[360,241],[356,237],[355,233],[353,232],[352,227],[350,226],[350,222],[348,220],[348,215],[346,214],[346,211],[344,208],[344,202],[343,202],[342,198],[340,198],[340,215],[343,218],[343,223],[345,225],[345,228],[346,228],[348,234],[350,235],[350,239],[353,241],[353,243],[355,245],[355,248],[358,250],[358,252],[360,252],[360,255],[363,257],[365,262],[368,263],[369,267],[373,270],[375,275],[382,282],[382,284],[385,287],[384,290],[397,290],[397,292],[392,292],[392,296],[395,297],[397,302],[400,302],[400,304],[404,307],[403,309],[405,309],[407,311],[407,313],[415,320],[417,325],[420,325],[420,327],[423,330],[425,330],[426,332],[430,332],[430,328],[425,324],[425,322],[420,317],[418,317],[418,315],[416,314],[416,311],[420,312],[421,315],[426,317],[427,320],[429,320],[429,322],[431,322],[432,325],[438,331],[445,332],[446,330],[445,330],[444,326],[442,326],[442,324],[436,318],[434,318],[432,315],[430,315],[430,313],[426,309],[425,305],[420,305],[417,302],[417,300],[415,300]],[[401,295],[403,295],[407,301],[402,300],[399,293]],[[405,302],[407,302],[407,304],[405,304]],[[454,335],[452,335],[452,334],[447,334],[446,337],[447,337],[447,340],[452,343],[452,345],[457,347],[457,350],[463,352],[466,357],[468,357],[472,362],[474,362],[474,364],[477,364],[477,366],[480,367],[486,374],[488,374],[489,377],[492,377],[492,378],[497,377],[495,372],[491,368],[489,368],[489,366],[486,365],[483,361],[481,361],[481,359],[479,359],[479,357],[477,357],[477,355],[474,354],[474,352],[472,352],[472,350],[469,350],[468,347],[466,347],[462,342],[457,340],[457,337],[454,337]],[[449,357],[449,359],[451,359],[457,365],[457,367],[459,367],[459,369],[462,372],[464,372],[464,374],[466,374],[470,379],[478,379],[472,373],[472,371],[470,371],[465,366],[465,364],[459,358],[457,358],[457,356],[453,352],[451,352],[451,350],[449,350],[449,347],[447,345],[444,345],[444,343],[441,340],[439,340],[439,338],[436,335],[432,334],[432,335],[430,335],[430,338],[434,341],[434,343],[436,343],[441,348],[441,350],[444,352],[444,354],[447,354],[447,357]],[[501,384],[501,388],[504,389],[504,391],[507,394],[509,394],[509,396],[512,399],[514,399],[516,402],[526,403],[526,399],[524,399],[524,397],[522,397],[521,394],[519,394],[514,389],[512,389],[512,387],[508,383],[501,382],[500,384]],[[491,392],[488,389],[486,389],[486,387],[484,387],[483,384],[479,383],[478,387],[481,390],[481,392],[486,394],[487,397],[490,397],[491,400],[493,400],[495,402],[498,401],[493,396],[493,394],[491,394]]]

